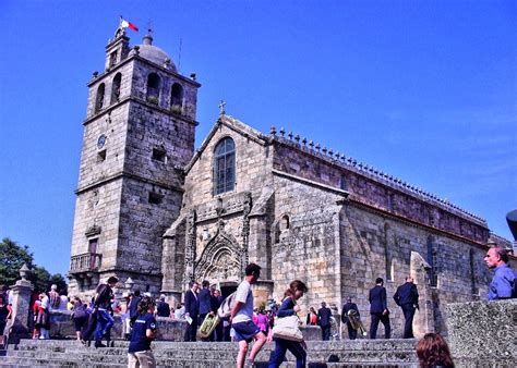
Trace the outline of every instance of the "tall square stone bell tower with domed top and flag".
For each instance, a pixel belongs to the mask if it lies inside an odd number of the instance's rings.
[[[197,88],[153,45],[130,48],[119,27],[95,72],[83,148],[70,263],[71,294],[92,295],[116,275],[159,292],[161,236],[180,211],[183,167],[194,152]]]

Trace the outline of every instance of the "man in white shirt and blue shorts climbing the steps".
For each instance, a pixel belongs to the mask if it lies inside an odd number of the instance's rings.
[[[239,342],[239,355],[237,356],[237,368],[244,367],[248,346],[253,340],[255,343],[247,361],[247,367],[254,367],[255,356],[266,342],[266,336],[258,326],[253,323],[253,293],[251,285],[258,280],[261,267],[250,263],[245,268],[245,277],[237,289],[236,298],[231,306],[230,322],[235,331],[235,339]]]

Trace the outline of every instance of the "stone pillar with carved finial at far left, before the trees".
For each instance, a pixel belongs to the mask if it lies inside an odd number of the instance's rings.
[[[28,272],[29,269],[27,265],[24,263],[20,269],[22,280],[16,281],[16,284],[11,286],[11,293],[13,294],[13,312],[9,341],[12,343],[17,343],[20,339],[31,338],[31,295],[34,286],[31,281],[26,279]]]

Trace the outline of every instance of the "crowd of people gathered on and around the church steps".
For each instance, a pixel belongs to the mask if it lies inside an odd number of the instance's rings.
[[[489,300],[517,297],[517,277],[508,265],[508,255],[500,247],[490,248],[484,257],[485,263],[494,270],[494,277],[489,286]],[[129,345],[130,367],[154,367],[155,359],[151,351],[151,342],[156,333],[156,317],[172,318],[187,321],[184,341],[196,341],[199,329],[206,321],[214,322],[208,332],[203,329],[202,341],[235,341],[239,344],[237,367],[253,367],[254,360],[262,346],[268,341],[275,341],[275,348],[270,354],[268,367],[279,367],[284,361],[287,351],[297,358],[297,368],[306,366],[306,345],[304,341],[285,339],[274,332],[275,320],[297,316],[300,306],[297,300],[308,292],[306,285],[300,280],[293,280],[284,293],[281,303],[254,308],[252,285],[261,275],[261,267],[250,263],[245,268],[245,275],[237,287],[235,294],[229,296],[229,312],[223,316],[220,309],[225,304],[221,292],[211,287],[208,281],[197,283],[192,281],[190,289],[184,294],[184,303],[171,308],[166,302],[166,295],[160,295],[158,300],[151,294],[143,295],[139,290],[123,295],[127,303],[120,304],[113,295],[113,287],[119,281],[111,277],[106,283],[98,285],[95,296],[83,303],[75,296],[71,300],[65,295],[59,295],[56,285],[51,285],[48,293],[37,293],[33,300],[34,333],[33,339],[49,339],[50,311],[72,310],[76,339],[89,346],[95,341],[95,347],[111,345],[110,330],[113,326],[113,314],[119,312],[123,322],[123,333]],[[389,310],[387,307],[387,293],[384,280],[377,278],[375,286],[369,291],[370,302],[370,333],[368,334],[360,319],[359,308],[351,297],[342,306],[341,322],[347,326],[348,338],[356,340],[359,335],[376,339],[378,323],[384,326],[384,338],[390,338]],[[413,339],[413,317],[419,309],[419,293],[413,279],[408,275],[405,283],[397,287],[393,295],[396,305],[402,310],[405,317],[404,339]],[[0,332],[5,330],[7,321],[12,315],[12,293],[2,286],[0,294]],[[309,308],[306,326],[318,326],[322,340],[327,341],[333,336],[336,327],[334,312],[325,302],[321,308]],[[4,335],[0,346],[5,343]],[[106,345],[103,344],[106,341]],[[248,356],[249,345],[254,342]],[[421,367],[454,367],[453,359],[445,340],[436,333],[428,333],[417,346],[417,355]]]

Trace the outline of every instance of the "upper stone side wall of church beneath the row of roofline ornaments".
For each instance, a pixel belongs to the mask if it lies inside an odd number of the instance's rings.
[[[332,155],[275,137],[274,169],[314,182],[344,188],[350,197],[394,214],[442,231],[486,243],[486,222],[421,189],[402,186],[387,174],[347,164]],[[353,162],[353,161],[352,161]],[[419,192],[420,191],[420,192]]]

